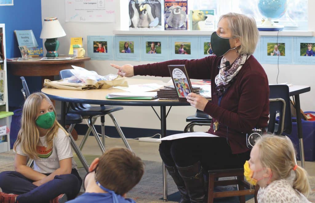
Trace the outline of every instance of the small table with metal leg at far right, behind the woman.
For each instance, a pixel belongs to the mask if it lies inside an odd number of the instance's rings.
[[[300,105],[300,94],[311,91],[310,86],[293,85],[289,87],[289,96],[295,99],[295,111],[296,111],[296,124],[297,124],[297,135],[300,143],[300,157],[301,166],[305,168],[304,160],[304,145],[303,145],[303,133],[302,133],[302,121],[301,121],[301,105]]]

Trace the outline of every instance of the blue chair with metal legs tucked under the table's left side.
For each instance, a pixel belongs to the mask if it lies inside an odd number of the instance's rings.
[[[68,77],[73,76],[73,74],[70,70],[73,70],[73,69],[61,70],[59,72],[59,78],[64,79],[64,78],[68,78]],[[115,112],[118,110],[123,110],[123,107],[122,106],[110,106],[110,105],[91,106],[90,104],[69,103],[69,108],[68,108],[67,113],[80,114],[81,116],[83,116],[83,119],[88,119],[89,128],[88,128],[88,131],[85,133],[83,140],[79,146],[80,150],[83,148],[83,145],[84,145],[86,139],[88,138],[89,134],[92,131],[97,143],[100,146],[100,149],[102,150],[102,152],[105,152],[105,115],[110,116],[110,118],[112,119],[112,121],[113,121],[113,123],[114,123],[114,125],[118,131],[118,134],[122,138],[125,146],[131,150],[131,148],[130,148],[130,146],[129,146],[126,138],[125,138],[125,135],[123,134],[123,131],[119,127],[115,117],[112,115],[112,112]],[[101,120],[102,142],[100,142],[100,138],[99,138],[98,133],[96,132],[96,129],[94,127],[94,123],[98,117],[100,117],[100,120]]]

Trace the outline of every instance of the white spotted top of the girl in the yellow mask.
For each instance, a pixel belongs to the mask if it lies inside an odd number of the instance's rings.
[[[311,203],[303,194],[293,189],[286,179],[272,181],[265,188],[260,188],[257,200],[258,203]]]

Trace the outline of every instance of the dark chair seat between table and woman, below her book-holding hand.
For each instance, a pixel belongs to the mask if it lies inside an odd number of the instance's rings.
[[[188,116],[186,122],[190,122],[184,128],[184,133],[194,132],[194,126],[210,126],[212,118],[208,114],[204,113],[201,110],[196,111],[196,114],[193,116]]]

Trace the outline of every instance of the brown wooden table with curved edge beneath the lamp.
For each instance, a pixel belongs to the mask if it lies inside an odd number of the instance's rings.
[[[82,57],[60,61],[7,61],[7,64],[14,76],[44,76],[42,77],[43,87],[44,79],[53,81],[54,76],[59,75],[60,70],[72,69],[71,65],[84,67],[84,61],[90,59],[89,57]]]

